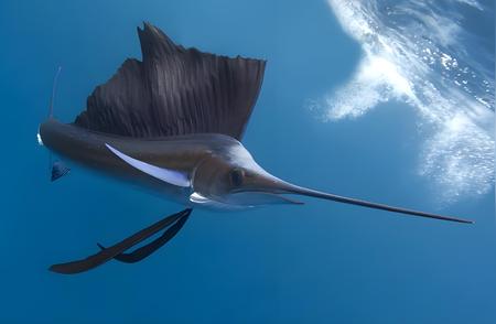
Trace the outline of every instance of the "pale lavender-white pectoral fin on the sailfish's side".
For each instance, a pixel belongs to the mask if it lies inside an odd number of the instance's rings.
[[[175,170],[170,170],[166,168],[160,168],[157,165],[152,165],[150,163],[137,160],[134,158],[131,158],[129,155],[126,155],[125,153],[120,152],[119,150],[110,147],[109,144],[105,143],[107,149],[109,149],[114,154],[122,159],[126,163],[129,165],[153,176],[159,180],[162,180],[164,182],[168,182],[170,184],[176,185],[176,186],[184,186],[188,187],[191,185],[191,181],[186,173]]]

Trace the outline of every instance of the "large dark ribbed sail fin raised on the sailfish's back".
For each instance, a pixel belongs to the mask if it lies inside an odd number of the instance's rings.
[[[175,45],[158,28],[138,28],[142,62],[127,60],[96,87],[75,125],[136,138],[216,132],[240,139],[266,62]]]

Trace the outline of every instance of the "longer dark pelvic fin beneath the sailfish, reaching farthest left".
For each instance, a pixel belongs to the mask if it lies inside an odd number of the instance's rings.
[[[96,255],[89,256],[83,260],[53,264],[52,267],[50,267],[50,270],[63,274],[74,274],[94,269],[98,266],[104,264],[108,260],[111,260],[112,258],[122,253],[127,249],[132,248],[140,241],[164,229],[165,227],[170,226],[171,224],[180,219],[182,216],[190,215],[192,209],[187,208],[174,215],[168,216],[164,219],[157,222],[155,224],[131,235],[130,237],[123,239],[122,241],[109,248],[106,248],[105,250],[99,251]]]

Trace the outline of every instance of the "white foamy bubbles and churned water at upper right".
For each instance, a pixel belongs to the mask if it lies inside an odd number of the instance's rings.
[[[481,37],[463,12],[493,22],[476,0],[328,0],[364,56],[347,84],[312,108],[327,120],[355,118],[379,104],[414,107],[423,133],[419,174],[442,186],[443,199],[494,186],[494,25]],[[486,43],[488,44],[486,44]]]

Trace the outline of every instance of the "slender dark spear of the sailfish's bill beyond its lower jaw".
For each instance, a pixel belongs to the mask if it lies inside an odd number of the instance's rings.
[[[358,206],[363,206],[363,207],[381,209],[381,210],[387,210],[387,212],[392,212],[392,213],[400,213],[400,214],[407,214],[407,215],[412,215],[412,216],[435,218],[435,219],[441,219],[441,220],[450,220],[450,222],[457,222],[457,223],[465,223],[465,224],[474,223],[473,220],[468,220],[468,219],[442,216],[442,215],[438,215],[438,214],[407,209],[407,208],[402,208],[402,207],[395,207],[395,206],[389,206],[389,205],[385,205],[385,204],[377,204],[377,203],[371,203],[371,202],[367,202],[367,201],[344,197],[344,196],[338,196],[338,195],[328,194],[328,193],[322,193],[319,191],[300,187],[300,186],[292,187],[291,192],[295,193],[295,194],[302,194],[302,195],[306,195],[306,196],[316,197],[316,198],[324,198],[327,201],[334,201],[334,202],[345,203],[345,204],[351,204],[351,205],[358,205]]]

